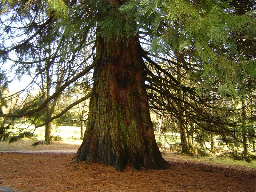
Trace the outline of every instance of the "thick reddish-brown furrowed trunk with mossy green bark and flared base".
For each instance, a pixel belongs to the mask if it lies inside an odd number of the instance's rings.
[[[88,124],[77,160],[100,162],[121,170],[164,169],[149,116],[138,38],[106,42],[96,38],[94,85]]]

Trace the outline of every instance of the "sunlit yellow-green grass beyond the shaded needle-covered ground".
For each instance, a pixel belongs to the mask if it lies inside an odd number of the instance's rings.
[[[0,151],[10,151],[10,150],[60,150],[60,149],[78,149],[81,145],[82,141],[80,138],[80,127],[68,127],[68,126],[60,126],[57,129],[53,130],[54,135],[59,135],[64,142],[54,142],[52,145],[39,145],[36,147],[30,146],[36,140],[28,140],[23,139],[22,141],[18,141],[12,144],[8,144],[8,142],[0,142]],[[44,140],[44,128],[37,128],[35,132],[38,137],[38,140]],[[156,132],[155,132],[156,133]],[[156,134],[156,142],[161,142],[163,146],[169,147],[170,144],[174,144],[175,142],[180,142],[180,136],[172,133],[166,133],[166,139],[163,134]],[[70,144],[70,145],[69,145]],[[75,145],[72,145],[75,144]],[[163,152],[164,154],[164,152]],[[252,163],[247,163],[245,161],[236,161],[232,160],[228,157],[217,157],[215,155],[211,155],[208,157],[191,157],[174,154],[175,158],[180,161],[200,161],[205,163],[217,163],[217,164],[227,164],[234,166],[245,166],[250,168],[256,168],[256,161],[252,161]]]

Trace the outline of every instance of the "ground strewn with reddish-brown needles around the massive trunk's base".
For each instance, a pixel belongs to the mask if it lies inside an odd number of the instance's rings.
[[[56,142],[36,147],[28,145],[33,143],[30,140],[11,145],[0,142],[0,151],[5,151],[0,153],[0,186],[28,192],[256,192],[254,168],[206,163],[165,152],[163,157],[169,163],[166,170],[134,170],[128,165],[123,171],[117,171],[112,166],[98,163],[74,163],[79,142]],[[23,153],[7,152],[20,150]],[[24,150],[33,150],[33,153]],[[58,153],[45,150],[57,150]],[[0,191],[4,190],[0,188]]]

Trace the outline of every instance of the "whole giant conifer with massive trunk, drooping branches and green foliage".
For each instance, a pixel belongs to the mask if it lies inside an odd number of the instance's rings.
[[[255,8],[254,0],[2,0],[0,138],[15,118],[47,126],[91,97],[77,160],[165,168],[149,109],[184,136],[185,153],[218,135],[247,154],[256,138]],[[31,82],[8,93],[10,74]],[[54,110],[83,81],[90,94]]]

